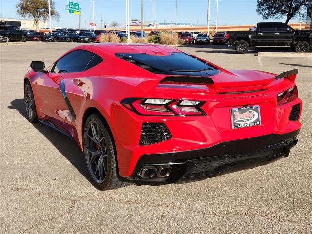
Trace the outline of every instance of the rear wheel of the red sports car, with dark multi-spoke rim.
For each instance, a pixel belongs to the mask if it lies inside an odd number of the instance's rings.
[[[92,114],[83,131],[84,155],[92,183],[99,190],[131,185],[131,181],[118,175],[113,137],[104,122],[100,114]]]

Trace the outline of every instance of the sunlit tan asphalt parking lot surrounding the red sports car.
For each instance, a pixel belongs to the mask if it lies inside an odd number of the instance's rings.
[[[312,58],[180,47],[226,69],[299,69],[299,142],[267,166],[185,184],[98,191],[74,140],[25,118],[23,77],[78,43],[0,45],[0,233],[312,233]],[[266,50],[264,50],[266,51]],[[311,56],[311,55],[310,55]]]

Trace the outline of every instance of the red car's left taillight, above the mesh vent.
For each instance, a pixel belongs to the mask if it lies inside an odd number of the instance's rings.
[[[172,100],[158,98],[125,98],[121,104],[140,115],[190,116],[205,115],[201,109],[204,101]]]

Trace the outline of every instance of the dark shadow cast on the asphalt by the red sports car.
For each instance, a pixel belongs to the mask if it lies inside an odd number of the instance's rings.
[[[9,109],[17,110],[23,117],[27,119],[24,99],[15,99],[11,101],[10,104],[11,105],[8,106]],[[91,183],[91,178],[85,164],[84,154],[74,139],[67,137],[66,135],[42,123],[34,123],[33,126],[44,137],[46,137],[59,150],[59,152]],[[137,186],[156,186],[163,185],[164,183],[138,181],[135,184]]]

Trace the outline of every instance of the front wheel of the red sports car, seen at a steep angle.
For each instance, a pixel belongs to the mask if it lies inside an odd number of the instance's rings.
[[[24,98],[28,121],[31,123],[38,122],[34,93],[29,81],[25,83]]]

